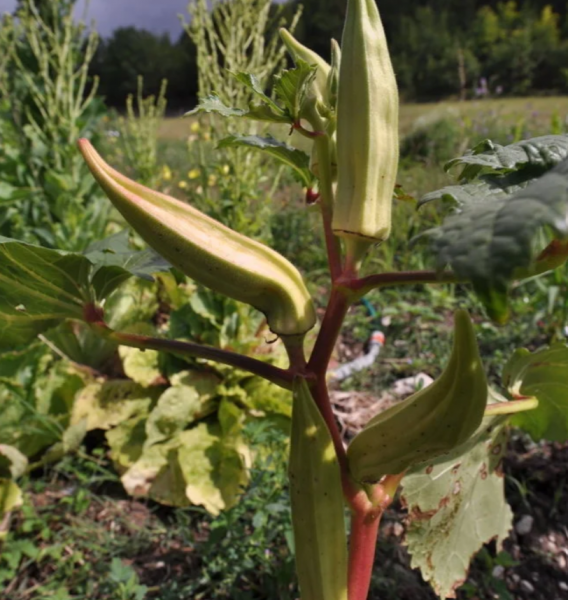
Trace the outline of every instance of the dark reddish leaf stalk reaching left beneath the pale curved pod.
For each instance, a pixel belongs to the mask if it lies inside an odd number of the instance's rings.
[[[121,333],[112,330],[104,321],[93,321],[89,324],[99,335],[122,346],[130,346],[131,348],[139,348],[140,350],[158,350],[160,352],[177,354],[178,356],[191,356],[213,360],[263,377],[286,390],[292,389],[294,375],[291,371],[280,369],[249,356],[191,342]]]

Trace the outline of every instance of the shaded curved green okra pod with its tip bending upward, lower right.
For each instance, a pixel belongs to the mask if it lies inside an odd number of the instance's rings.
[[[427,388],[369,421],[347,450],[351,474],[371,483],[402,473],[465,442],[479,427],[487,380],[467,311],[454,316],[452,354]]]

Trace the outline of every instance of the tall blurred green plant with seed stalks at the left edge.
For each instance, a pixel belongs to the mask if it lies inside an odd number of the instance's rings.
[[[4,18],[0,233],[80,250],[102,236],[108,208],[74,148],[104,110],[97,82],[88,89],[98,37],[74,22],[73,5],[25,0]]]

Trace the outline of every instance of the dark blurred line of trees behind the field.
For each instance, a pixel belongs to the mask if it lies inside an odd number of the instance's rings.
[[[568,92],[566,0],[377,3],[407,101]],[[346,0],[290,0],[275,5],[274,14],[290,16],[299,4],[296,36],[328,57],[330,38],[341,39]],[[107,104],[117,108],[135,92],[138,75],[146,93],[157,93],[168,79],[172,110],[196,101],[196,49],[186,32],[172,40],[134,27],[116,29],[101,40],[91,72]]]

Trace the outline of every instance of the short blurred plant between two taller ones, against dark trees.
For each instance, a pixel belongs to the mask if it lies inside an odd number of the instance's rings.
[[[156,186],[163,174],[158,165],[158,132],[166,112],[167,81],[162,81],[157,97],[143,97],[144,79],[138,77],[136,100],[126,100],[126,117],[119,119],[122,150],[135,178],[145,185]]]

